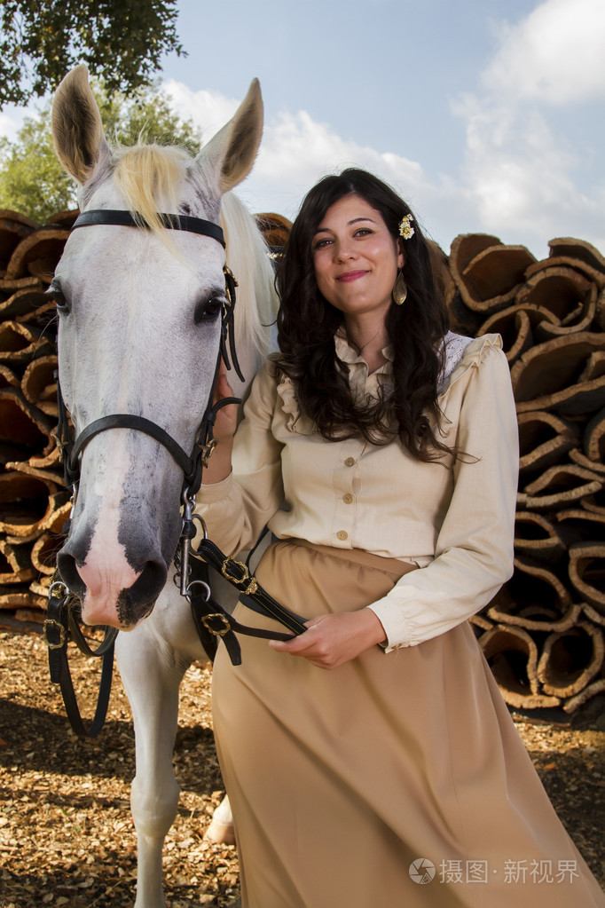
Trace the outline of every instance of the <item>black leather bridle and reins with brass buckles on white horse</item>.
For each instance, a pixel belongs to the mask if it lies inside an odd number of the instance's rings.
[[[170,230],[181,230],[210,237],[225,248],[224,234],[218,224],[204,221],[201,218],[160,214],[162,226]],[[80,227],[95,226],[98,224],[113,224],[125,227],[147,229],[147,224],[141,216],[131,212],[110,209],[93,210],[81,213],[73,224],[73,230]],[[67,418],[67,410],[61,393],[57,373],[57,398],[59,405],[59,421],[57,430],[57,444],[61,449],[65,485],[73,487],[73,503],[80,478],[80,458],[88,442],[96,435],[109,429],[134,429],[151,436],[161,446],[169,451],[183,473],[181,489],[181,502],[183,517],[181,525],[181,538],[175,554],[176,567],[175,583],[180,587],[181,595],[185,597],[191,607],[195,626],[200,636],[200,641],[210,658],[214,657],[217,647],[217,638],[222,638],[227,646],[229,657],[234,665],[241,663],[239,642],[235,636],[247,634],[253,637],[268,639],[288,639],[292,633],[304,632],[304,620],[288,609],[280,606],[276,600],[259,587],[256,579],[250,577],[247,565],[227,558],[220,549],[208,538],[203,520],[193,514],[195,508],[195,495],[200,489],[202,469],[207,466],[212,450],[217,444],[213,438],[213,426],[218,411],[229,403],[239,403],[238,398],[223,398],[213,403],[217,381],[219,379],[220,360],[224,360],[228,369],[231,364],[239,380],[244,380],[239,368],[239,361],[235,349],[235,331],[233,314],[236,302],[235,288],[237,281],[227,266],[223,268],[225,274],[225,299],[222,304],[220,324],[220,345],[214,376],[212,379],[209,400],[196,433],[196,439],[191,455],[181,448],[181,445],[161,426],[151,419],[128,413],[114,413],[95,419],[86,426],[77,438],[73,439]],[[196,535],[195,521],[200,521],[203,528],[203,538],[199,547],[193,549],[191,540]],[[220,571],[223,577],[237,587],[242,594],[241,600],[262,614],[275,617],[288,627],[289,634],[279,634],[259,628],[240,625],[211,597],[208,565]],[[78,623],[77,612],[80,599],[67,587],[58,572],[49,589],[48,617],[44,622],[44,637],[48,646],[49,666],[51,680],[61,686],[63,702],[73,731],[80,736],[93,737],[101,731],[109,703],[109,694],[112,685],[113,646],[118,631],[112,627],[105,628],[102,643],[91,649]],[[86,728],[77,706],[73,683],[67,661],[67,642],[72,637],[76,645],[86,656],[102,657],[102,678],[99,697],[92,725]]]

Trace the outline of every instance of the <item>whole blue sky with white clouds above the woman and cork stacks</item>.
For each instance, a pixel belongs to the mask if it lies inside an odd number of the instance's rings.
[[[162,83],[205,138],[259,77],[265,133],[239,188],[253,211],[291,218],[320,176],[356,164],[392,183],[446,252],[463,232],[538,258],[557,236],[605,252],[605,0],[179,8],[189,56],[166,58]]]

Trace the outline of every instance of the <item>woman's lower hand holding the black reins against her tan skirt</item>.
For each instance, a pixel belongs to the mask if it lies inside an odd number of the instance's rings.
[[[270,640],[269,646],[280,653],[302,656],[318,668],[331,669],[344,666],[386,639],[385,629],[371,608],[321,615],[307,621],[305,627],[304,634],[284,642]]]

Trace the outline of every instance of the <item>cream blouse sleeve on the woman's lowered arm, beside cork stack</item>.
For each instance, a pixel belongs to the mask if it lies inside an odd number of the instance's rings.
[[[459,414],[454,443],[465,453],[452,468],[434,560],[369,606],[385,628],[387,651],[450,630],[512,576],[519,439],[508,363],[492,338],[472,341],[440,396],[446,414]]]

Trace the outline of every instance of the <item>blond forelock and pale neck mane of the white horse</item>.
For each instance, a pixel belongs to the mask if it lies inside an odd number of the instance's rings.
[[[119,148],[114,154],[115,182],[130,212],[176,252],[170,231],[161,224],[158,206],[178,211],[189,153],[174,145],[138,144]],[[278,311],[267,246],[254,218],[232,192],[222,197],[220,226],[227,242],[227,264],[239,283],[236,341],[251,338],[259,357],[264,358],[271,349],[269,326]]]

